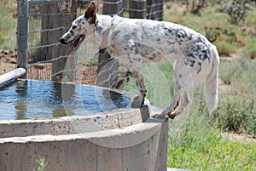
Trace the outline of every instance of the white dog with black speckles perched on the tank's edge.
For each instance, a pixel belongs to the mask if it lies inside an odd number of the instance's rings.
[[[141,106],[146,89],[141,62],[166,58],[172,60],[175,78],[171,105],[156,117],[174,118],[189,104],[189,88],[205,83],[204,97],[212,114],[218,103],[218,51],[206,37],[185,26],[165,21],[126,19],[97,14],[90,3],[85,14],[73,21],[60,42],[72,43],[71,52],[90,40],[113,57],[129,60],[140,95],[132,105]]]

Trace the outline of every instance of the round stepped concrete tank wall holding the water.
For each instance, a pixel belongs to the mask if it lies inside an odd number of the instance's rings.
[[[41,157],[44,171],[164,171],[168,122],[154,109],[2,120],[0,170],[37,170]]]

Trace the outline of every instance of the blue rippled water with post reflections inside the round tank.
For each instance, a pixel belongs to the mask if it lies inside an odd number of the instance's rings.
[[[64,117],[131,108],[124,94],[102,88],[19,80],[0,87],[0,120]]]

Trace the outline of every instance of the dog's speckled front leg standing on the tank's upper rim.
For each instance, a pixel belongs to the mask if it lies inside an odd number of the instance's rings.
[[[135,82],[140,93],[138,96],[136,96],[133,99],[131,103],[131,107],[139,108],[144,105],[144,100],[147,93],[147,90],[145,88],[145,83],[144,83],[144,77],[143,77],[142,71],[133,70],[131,71],[131,74],[135,78]]]

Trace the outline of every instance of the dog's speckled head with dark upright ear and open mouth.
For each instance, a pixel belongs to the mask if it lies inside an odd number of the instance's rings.
[[[74,49],[79,48],[79,45],[84,42],[85,37],[88,37],[95,30],[96,24],[96,3],[90,3],[84,15],[73,20],[72,26],[60,39],[63,44],[73,43],[70,53]]]

